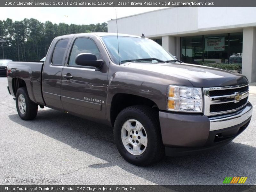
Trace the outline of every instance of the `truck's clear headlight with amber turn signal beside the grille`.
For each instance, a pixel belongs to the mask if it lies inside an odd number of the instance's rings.
[[[202,89],[169,85],[167,110],[203,112]]]

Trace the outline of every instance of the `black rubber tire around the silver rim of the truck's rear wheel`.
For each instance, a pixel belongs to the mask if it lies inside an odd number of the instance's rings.
[[[23,95],[23,97],[25,99],[24,106],[26,107],[26,110],[23,111],[23,113],[21,112],[21,109],[19,108],[19,97],[20,97],[20,95],[21,96]],[[23,119],[23,120],[32,120],[37,115],[38,104],[34,103],[32,100],[29,99],[28,91],[27,91],[26,87],[20,87],[17,90],[17,93],[16,93],[16,108],[17,108],[17,112],[18,112],[20,118]]]

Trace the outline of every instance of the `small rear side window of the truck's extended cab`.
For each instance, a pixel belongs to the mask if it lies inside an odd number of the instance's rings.
[[[52,64],[61,65],[64,59],[64,54],[67,49],[68,39],[61,39],[57,42],[53,54],[52,54]]]

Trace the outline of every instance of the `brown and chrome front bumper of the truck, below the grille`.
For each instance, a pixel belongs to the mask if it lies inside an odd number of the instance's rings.
[[[167,156],[181,156],[228,144],[244,131],[252,117],[250,102],[236,113],[208,117],[159,112]]]

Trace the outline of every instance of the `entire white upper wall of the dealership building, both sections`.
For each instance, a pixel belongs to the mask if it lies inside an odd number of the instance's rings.
[[[242,31],[256,26],[256,7],[171,7],[120,18],[117,25],[118,33],[146,37]],[[116,20],[108,21],[108,32],[116,33]]]

